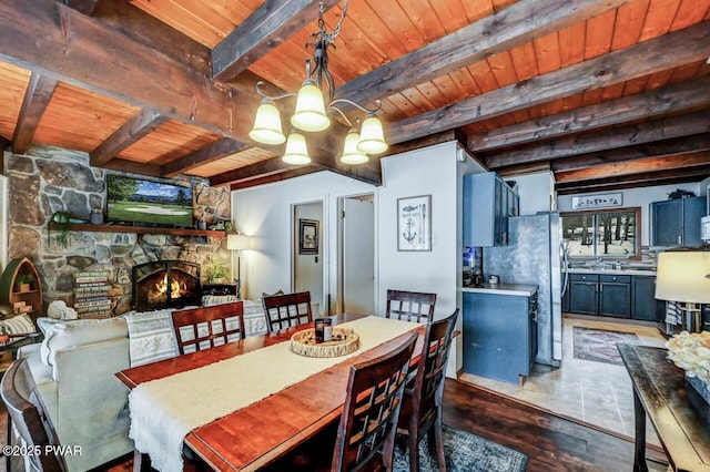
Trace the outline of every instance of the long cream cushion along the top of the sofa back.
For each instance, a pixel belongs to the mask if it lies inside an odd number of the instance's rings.
[[[48,326],[50,326],[48,324]],[[40,358],[45,366],[53,366],[57,351],[92,342],[108,341],[129,336],[122,318],[78,319],[51,325],[44,335]]]

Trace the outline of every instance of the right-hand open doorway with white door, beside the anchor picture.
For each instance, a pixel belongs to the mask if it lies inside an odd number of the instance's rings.
[[[375,312],[375,196],[338,199],[341,312]]]

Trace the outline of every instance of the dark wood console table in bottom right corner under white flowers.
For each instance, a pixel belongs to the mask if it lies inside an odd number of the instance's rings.
[[[623,343],[618,348],[633,383],[633,471],[648,471],[648,414],[674,471],[710,472],[710,408],[687,388],[684,371],[667,360],[666,349]]]

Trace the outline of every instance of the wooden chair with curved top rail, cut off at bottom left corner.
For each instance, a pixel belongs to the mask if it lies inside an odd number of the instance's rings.
[[[8,409],[8,422],[12,422],[12,428],[23,441],[24,449],[33,452],[32,454],[23,454],[30,461],[33,470],[65,471],[67,464],[62,455],[51,451],[48,453],[45,449],[48,445],[58,447],[59,442],[34,388],[34,380],[27,360],[23,358],[14,360],[0,381],[0,396]],[[11,443],[9,435],[7,442]],[[6,470],[8,471],[10,471],[10,461],[11,455],[6,454]]]

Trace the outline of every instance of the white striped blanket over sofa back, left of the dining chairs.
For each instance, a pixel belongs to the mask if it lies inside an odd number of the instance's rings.
[[[178,355],[170,314],[172,309],[124,315],[129,326],[131,367]]]

